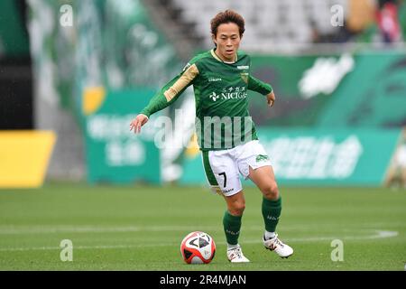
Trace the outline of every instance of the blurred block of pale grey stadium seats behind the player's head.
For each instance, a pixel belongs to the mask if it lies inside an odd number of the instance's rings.
[[[204,46],[212,47],[208,35],[210,20],[227,8],[243,14],[246,23],[245,47],[250,50],[269,50],[287,46],[290,50],[309,46],[313,41],[312,30],[328,34],[338,28],[330,23],[333,5],[342,5],[346,11],[348,0],[172,0],[179,8],[181,20],[196,23],[195,33],[204,39]],[[313,26],[312,26],[313,23]]]

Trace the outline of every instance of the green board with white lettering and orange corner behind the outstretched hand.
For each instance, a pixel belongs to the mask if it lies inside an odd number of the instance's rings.
[[[88,182],[161,182],[160,151],[154,144],[153,124],[159,114],[151,117],[143,134],[130,132],[135,113],[147,104],[154,91],[98,92],[89,91],[92,101],[84,104],[88,114],[85,126]]]

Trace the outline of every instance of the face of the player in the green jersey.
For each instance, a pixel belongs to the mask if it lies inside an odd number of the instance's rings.
[[[238,25],[235,23],[220,24],[217,27],[217,35],[212,37],[213,41],[217,44],[217,56],[222,61],[235,61],[235,53],[241,42]]]

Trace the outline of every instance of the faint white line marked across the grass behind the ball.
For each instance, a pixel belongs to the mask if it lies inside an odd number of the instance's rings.
[[[367,236],[345,236],[345,237],[312,237],[312,238],[286,238],[286,242],[318,242],[330,241],[333,239],[341,240],[361,240],[361,239],[375,239],[375,238],[392,238],[399,235],[397,231],[384,231],[374,230],[373,235]],[[245,244],[261,244],[261,239],[248,239],[244,240]],[[225,241],[216,242],[217,245],[226,245]],[[74,249],[115,249],[115,248],[134,248],[134,247],[170,247],[178,246],[174,243],[158,243],[158,244],[136,244],[136,245],[99,245],[99,246],[78,246]],[[0,247],[0,252],[13,252],[13,251],[37,251],[37,250],[60,250],[61,247]]]

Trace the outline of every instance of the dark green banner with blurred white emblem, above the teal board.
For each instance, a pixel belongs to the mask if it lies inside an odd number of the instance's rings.
[[[406,51],[253,56],[254,76],[271,83],[272,109],[253,95],[257,126],[401,127],[406,121]]]

